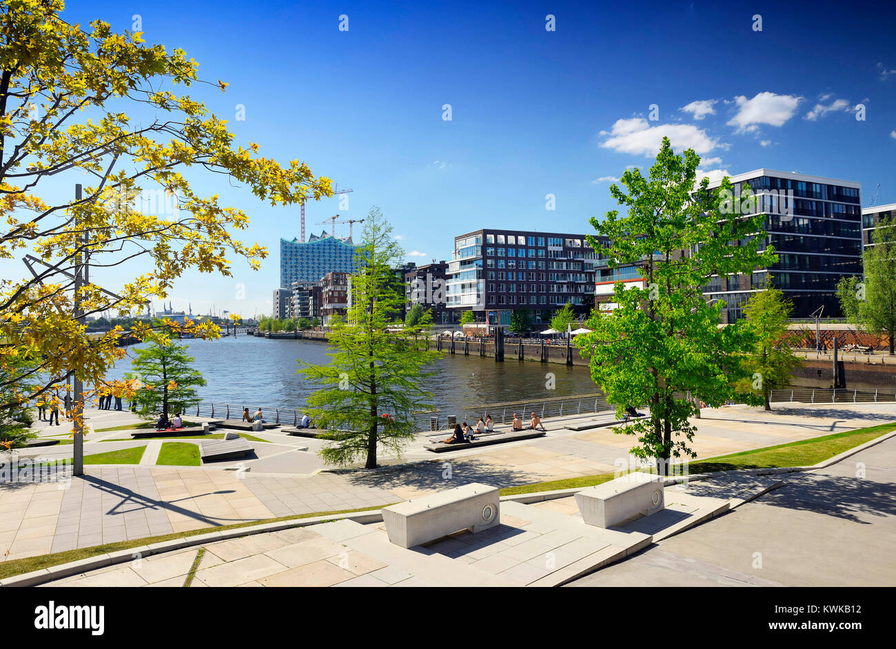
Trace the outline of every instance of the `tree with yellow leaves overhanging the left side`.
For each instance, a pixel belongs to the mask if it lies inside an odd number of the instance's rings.
[[[0,257],[30,255],[31,272],[0,280],[0,418],[50,401],[74,376],[91,390],[126,391],[105,374],[125,354],[121,337],[146,337],[151,322],[90,337],[77,316],[145,312],[189,269],[228,277],[237,258],[258,268],[266,250],[233,234],[246,229],[246,214],[194,192],[188,170],[247,185],[271,205],[332,195],[328,178],[298,160],[263,158],[256,144],[237,146],[225,120],[179,93],[227,85],[202,81],[183,50],[104,21],[71,24],[62,0],[2,7]],[[84,184],[72,200],[48,198],[75,183]],[[164,192],[174,216],[135,205],[144,192]],[[115,269],[121,287],[78,283],[79,269]],[[185,326],[219,334],[211,323]]]

